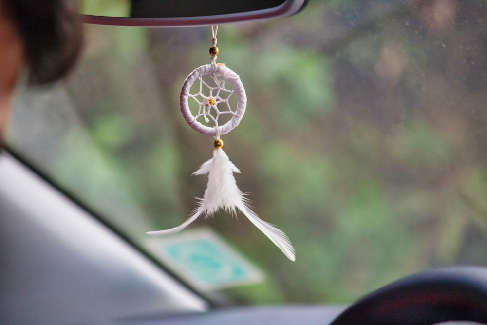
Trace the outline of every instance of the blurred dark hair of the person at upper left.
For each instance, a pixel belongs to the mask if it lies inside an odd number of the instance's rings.
[[[75,64],[82,27],[70,3],[73,1],[3,0],[25,44],[30,84],[56,81]]]

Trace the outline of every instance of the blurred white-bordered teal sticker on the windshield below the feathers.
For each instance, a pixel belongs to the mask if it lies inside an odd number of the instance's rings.
[[[150,241],[150,247],[169,268],[204,290],[257,283],[263,279],[262,271],[210,229],[157,238]]]

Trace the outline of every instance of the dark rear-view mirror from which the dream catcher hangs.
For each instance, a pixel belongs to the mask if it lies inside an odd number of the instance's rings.
[[[177,27],[291,16],[308,0],[80,0],[89,24]]]

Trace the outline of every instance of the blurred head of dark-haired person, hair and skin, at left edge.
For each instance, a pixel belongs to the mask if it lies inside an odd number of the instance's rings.
[[[71,2],[0,0],[0,139],[21,72],[30,85],[43,85],[74,65],[82,30]]]

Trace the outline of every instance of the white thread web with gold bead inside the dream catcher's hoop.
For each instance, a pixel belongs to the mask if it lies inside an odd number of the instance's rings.
[[[217,85],[216,87],[211,87],[208,84],[209,80],[208,82],[203,80],[202,76],[198,77],[198,93],[189,94],[188,97],[193,98],[198,104],[198,113],[194,115],[195,119],[203,117],[206,123],[209,123],[210,120],[212,120],[215,123],[215,126],[219,126],[218,120],[221,115],[227,115],[228,120],[236,115],[232,110],[230,103],[230,97],[235,90],[225,88],[225,79],[219,80],[216,76],[212,76],[211,79]],[[227,82],[226,84],[232,83]],[[225,121],[226,120],[227,119],[225,118]]]

